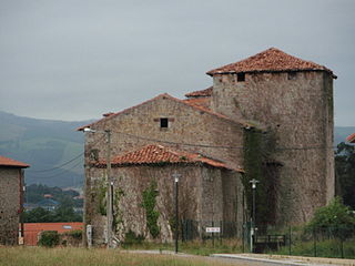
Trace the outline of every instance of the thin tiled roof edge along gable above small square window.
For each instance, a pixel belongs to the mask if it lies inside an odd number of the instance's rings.
[[[120,114],[126,113],[126,112],[129,112],[129,111],[131,111],[131,110],[133,110],[133,109],[136,109],[136,108],[139,108],[139,106],[142,106],[142,105],[144,105],[144,104],[146,104],[146,103],[149,103],[149,102],[155,101],[155,100],[161,99],[161,98],[162,98],[162,99],[170,99],[170,100],[175,101],[175,102],[180,102],[180,103],[182,103],[182,104],[185,104],[185,105],[187,105],[187,106],[190,106],[190,108],[193,108],[193,109],[196,109],[196,110],[199,110],[199,111],[203,111],[203,112],[205,112],[205,113],[209,113],[209,114],[211,114],[211,115],[217,116],[217,117],[220,117],[220,119],[227,120],[227,121],[230,121],[230,122],[236,123],[236,121],[231,120],[230,117],[225,116],[224,114],[220,114],[220,113],[213,112],[213,111],[210,110],[210,109],[203,108],[203,106],[197,105],[197,104],[192,104],[192,103],[185,102],[184,100],[180,100],[180,99],[173,98],[173,96],[169,95],[168,93],[163,93],[163,94],[159,94],[158,96],[155,96],[155,98],[153,98],[153,99],[151,99],[151,100],[148,100],[148,101],[145,101],[145,102],[142,102],[142,103],[140,103],[140,104],[138,104],[138,105],[128,108],[128,109],[125,109],[125,110],[123,110],[123,111],[120,111],[120,112],[118,112],[118,113],[110,114],[109,116],[105,116],[105,117],[103,117],[103,119],[101,119],[101,120],[99,120],[99,121],[95,121],[95,122],[91,123],[91,124],[87,124],[87,125],[80,126],[80,127],[77,129],[77,131],[83,131],[85,127],[91,127],[92,125],[94,125],[94,124],[97,124],[97,123],[99,123],[99,122],[108,121],[108,120],[110,120],[110,119],[112,119],[112,117],[115,117],[115,116],[118,116],[118,115],[120,115]],[[239,122],[239,123],[242,124],[243,126],[250,126],[250,125],[248,125],[246,122],[244,122],[244,121],[241,121],[241,122]]]

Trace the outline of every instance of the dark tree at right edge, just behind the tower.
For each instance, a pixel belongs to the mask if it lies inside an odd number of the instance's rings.
[[[355,209],[355,146],[337,145],[335,152],[336,194],[344,204]]]

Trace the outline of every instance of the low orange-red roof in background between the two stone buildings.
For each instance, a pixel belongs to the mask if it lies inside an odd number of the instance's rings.
[[[82,229],[83,223],[24,223],[24,245],[36,246],[39,234],[43,231],[57,231],[59,234]]]

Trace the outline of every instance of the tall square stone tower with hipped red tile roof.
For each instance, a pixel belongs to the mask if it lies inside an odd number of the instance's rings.
[[[276,224],[298,224],[334,196],[333,72],[275,48],[207,72],[212,109],[273,137]]]

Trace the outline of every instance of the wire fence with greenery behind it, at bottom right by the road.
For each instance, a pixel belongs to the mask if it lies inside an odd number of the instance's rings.
[[[212,244],[216,248],[235,245],[227,239],[237,239],[241,244],[239,250],[243,253],[355,258],[355,226],[253,229],[250,223],[184,219],[180,222],[179,239],[183,243],[199,241],[201,245]]]

